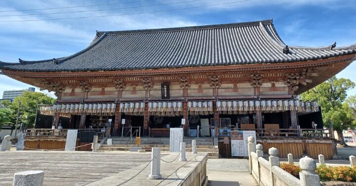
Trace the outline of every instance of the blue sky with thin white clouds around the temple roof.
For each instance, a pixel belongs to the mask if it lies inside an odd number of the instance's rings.
[[[13,11],[0,12],[0,21],[127,14],[202,6],[236,0],[195,0],[184,3],[147,6],[182,1],[188,0],[1,0],[0,11]],[[121,2],[127,3],[19,11]],[[132,6],[146,7],[128,8]],[[111,8],[121,9],[19,16],[20,14]],[[94,38],[96,30],[113,31],[181,27],[270,18],[273,18],[274,26],[282,40],[290,46],[318,47],[328,46],[336,42],[337,47],[340,47],[356,43],[356,0],[250,0],[219,6],[147,14],[33,22],[0,22],[0,60],[17,62],[18,58],[41,60],[71,55],[87,47]],[[356,82],[355,71],[356,62],[352,63],[337,76]],[[4,90],[24,89],[27,87],[31,86],[0,75],[0,97]],[[53,95],[53,93],[48,94]],[[349,91],[348,94],[355,95],[356,89]]]

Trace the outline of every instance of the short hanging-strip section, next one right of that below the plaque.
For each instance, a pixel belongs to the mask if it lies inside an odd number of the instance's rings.
[[[188,101],[189,115],[209,115],[214,114],[213,101]]]

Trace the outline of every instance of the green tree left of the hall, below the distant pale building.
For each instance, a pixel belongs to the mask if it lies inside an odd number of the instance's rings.
[[[13,102],[9,102],[8,100],[1,101],[3,106],[12,111],[9,122],[12,130],[15,129],[19,102],[21,102],[21,108],[18,127],[23,123],[25,128],[33,128],[36,119],[37,104],[51,104],[55,102],[55,99],[47,96],[45,93],[24,92],[22,95],[15,97]]]

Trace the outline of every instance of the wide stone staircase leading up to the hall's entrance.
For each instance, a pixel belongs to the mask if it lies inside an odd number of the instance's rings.
[[[186,145],[191,144],[191,140],[195,139],[197,144],[198,152],[207,152],[209,154],[209,158],[218,158],[219,157],[219,149],[212,148],[212,139],[211,138],[183,138],[183,142]],[[125,149],[125,144],[130,140],[130,138],[112,138],[112,145],[106,145],[106,141],[101,145],[99,150],[130,150]],[[142,149],[146,151],[151,151],[152,147],[159,147],[161,151],[169,151],[170,139],[169,138],[141,138],[141,144],[138,147],[142,147]],[[130,142],[128,143],[130,144]],[[137,147],[136,141],[130,145],[131,147]],[[191,145],[187,146],[187,151],[191,151]]]

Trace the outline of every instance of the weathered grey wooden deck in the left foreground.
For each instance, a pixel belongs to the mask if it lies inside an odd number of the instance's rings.
[[[149,162],[151,153],[88,151],[0,152],[0,185],[11,186],[16,172],[45,171],[44,186],[84,186]]]

